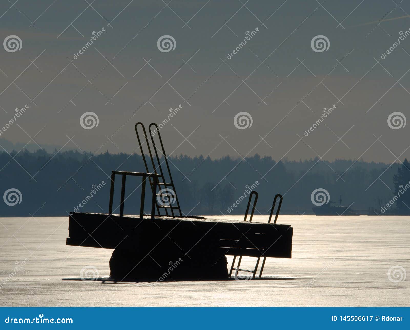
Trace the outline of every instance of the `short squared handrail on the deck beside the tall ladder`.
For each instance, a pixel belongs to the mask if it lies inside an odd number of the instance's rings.
[[[121,201],[120,201],[120,216],[121,217],[124,215],[125,179],[126,179],[127,175],[142,177],[141,208],[140,208],[140,213],[139,213],[139,216],[142,219],[144,217],[144,200],[145,200],[145,182],[146,182],[146,178],[147,177],[152,177],[153,178],[153,184],[154,184],[153,191],[155,192],[156,189],[157,189],[158,177],[160,175],[156,174],[156,173],[112,171],[111,172],[111,187],[110,187],[110,192],[109,192],[109,211],[108,211],[109,216],[112,215],[112,203],[113,203],[113,200],[114,200],[114,180],[115,180],[115,175],[116,174],[123,176],[122,185],[121,185]],[[155,193],[154,192],[153,192],[152,205],[151,205],[151,218],[154,218],[154,216],[155,216],[155,205],[156,205],[156,203],[155,203]]]

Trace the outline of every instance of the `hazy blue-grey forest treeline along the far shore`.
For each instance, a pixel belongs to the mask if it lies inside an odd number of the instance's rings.
[[[284,196],[283,213],[311,213],[310,195],[318,188],[326,189],[330,200],[337,203],[343,195],[342,205],[351,205],[352,209],[374,207],[374,200],[379,209],[379,200],[380,205],[385,205],[393,197],[393,176],[402,167],[397,163],[361,160],[278,162],[259,155],[242,160],[180,155],[170,157],[169,162],[182,211],[191,215],[227,214],[228,207],[245,194],[247,185],[252,186],[255,182],[258,182],[255,190],[259,193],[255,214],[269,213],[276,193]],[[98,191],[82,203],[80,211],[107,212],[112,170],[146,171],[142,157],[136,154],[110,154],[108,151],[99,155],[78,151],[47,153],[45,150],[25,150],[18,154],[15,151],[10,154],[2,152],[0,192],[18,189],[22,200],[14,206],[1,201],[0,216],[65,216],[99,184]],[[139,213],[140,189],[135,189],[139,184],[140,178],[127,178],[125,213]],[[114,208],[119,203],[120,185],[121,178],[117,177]],[[150,191],[147,192],[150,196]],[[246,196],[232,214],[244,213],[247,199]],[[149,204],[147,197],[146,212],[149,212]]]

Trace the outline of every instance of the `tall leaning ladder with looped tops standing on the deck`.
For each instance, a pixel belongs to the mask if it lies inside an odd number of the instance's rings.
[[[141,143],[141,138],[138,132],[138,125],[141,125],[143,132],[144,132],[144,141]],[[151,131],[151,127],[155,126],[154,128],[154,132]],[[151,189],[153,191],[153,194],[156,195],[157,198],[155,198],[155,208],[157,209],[157,213],[158,216],[172,216],[173,218],[175,217],[180,217],[182,218],[182,212],[181,212],[181,207],[178,201],[178,196],[175,190],[175,185],[174,182],[172,180],[172,175],[171,175],[171,170],[169,168],[169,164],[168,164],[168,159],[166,157],[166,153],[164,150],[164,144],[162,143],[162,139],[161,139],[161,135],[159,134],[159,128],[158,125],[155,123],[151,123],[150,126],[148,126],[148,131],[150,132],[150,137],[151,137],[151,141],[148,140],[147,137],[147,133],[145,130],[145,126],[143,123],[138,122],[135,124],[135,133],[137,134],[137,139],[138,139],[138,143],[139,143],[139,148],[141,150],[141,155],[142,155],[142,159],[144,160],[144,165],[146,168],[147,173],[155,173],[157,174],[157,178],[153,178],[153,177],[148,177],[148,180],[150,182],[150,186]],[[159,149],[156,145],[155,145],[155,140],[154,140],[154,136],[158,135],[158,139],[159,139],[159,143],[161,146],[161,149]],[[151,159],[151,164],[153,167],[153,170],[151,171],[148,168],[148,163],[146,161],[146,154],[144,153],[144,148],[143,148],[143,144],[146,143],[147,145],[147,149],[148,149],[148,155],[150,156]],[[155,164],[154,162],[154,158],[153,158],[153,153],[151,152],[151,148],[150,148],[150,144],[153,146],[154,148],[154,152],[155,152],[155,157],[157,159],[157,164]],[[158,155],[158,150],[159,152],[162,153],[162,156],[164,157],[164,161],[166,164],[166,169],[168,171],[168,177],[169,177],[169,182],[166,182],[165,176],[164,176],[164,171],[162,170],[162,166],[161,166],[161,162],[160,162],[160,157]],[[156,184],[154,184],[154,180],[157,180]],[[158,187],[158,193],[157,193],[157,189],[156,187]],[[162,203],[160,202],[162,200],[162,198],[169,199],[170,201],[173,200],[173,202],[171,202],[168,205],[168,202]],[[176,206],[173,206],[173,204],[176,204]],[[164,210],[165,214],[161,214],[160,210]],[[169,213],[169,211],[171,211],[171,214]],[[174,212],[175,211],[175,212]],[[177,211],[179,212],[178,214]]]

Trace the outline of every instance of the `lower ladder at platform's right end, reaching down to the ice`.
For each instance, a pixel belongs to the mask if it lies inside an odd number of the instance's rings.
[[[252,211],[251,211],[251,216],[249,217],[249,222],[252,221],[253,213],[255,212],[255,207],[256,207],[256,202],[257,202],[258,194],[257,194],[256,191],[252,191],[251,194],[249,195],[248,205],[246,206],[246,212],[245,212],[244,221],[246,221],[246,218],[248,217],[248,211],[249,211],[249,206],[251,205],[252,195],[255,195],[255,200],[253,201],[253,204],[252,204]],[[278,215],[279,215],[279,211],[280,211],[280,206],[282,205],[282,200],[283,200],[283,197],[282,197],[282,195],[280,195],[280,194],[276,194],[276,195],[275,195],[275,198],[273,199],[273,204],[272,204],[272,208],[271,208],[271,213],[270,213],[270,215],[269,215],[268,223],[271,223],[272,215],[273,215],[273,210],[275,209],[276,200],[277,200],[278,198],[280,198],[280,199],[279,199],[278,208],[276,209],[275,220],[273,221],[273,223],[276,224],[276,220],[278,220]],[[245,238],[245,239],[246,239],[246,238]],[[235,268],[234,266],[235,266],[235,260],[236,260],[236,258],[237,258],[237,255],[235,255],[235,256],[233,257],[232,265],[231,265],[230,272],[229,272],[229,276],[232,276],[232,271],[235,270],[235,276],[237,276],[238,272],[248,272],[248,273],[251,273],[251,274],[252,274],[252,278],[254,278],[254,277],[256,276],[256,273],[257,273],[257,267],[259,266],[260,258],[262,258],[262,257],[257,257],[256,266],[255,266],[255,269],[254,269],[253,271],[252,271],[252,270],[248,270],[248,269],[241,269],[241,268],[239,268],[239,267],[241,266],[242,256],[239,256],[238,264],[237,264],[237,266],[236,266],[236,268]],[[265,267],[265,263],[266,263],[266,257],[263,257],[262,266],[261,266],[261,268],[260,268],[260,272],[259,272],[259,276],[258,276],[258,277],[262,277],[262,272],[263,272],[263,269],[264,269],[264,267]]]

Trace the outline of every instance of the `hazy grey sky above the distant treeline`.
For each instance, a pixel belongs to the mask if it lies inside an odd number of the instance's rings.
[[[409,2],[168,1],[2,1],[1,40],[16,35],[22,47],[0,52],[0,126],[29,108],[0,144],[132,153],[134,124],[160,123],[181,104],[161,130],[168,153],[410,157],[410,124],[388,124],[393,112],[410,119]],[[164,35],[174,50],[158,49]],[[312,49],[319,35],[328,50]],[[80,125],[85,112],[98,126]],[[239,112],[252,126],[235,126]]]

